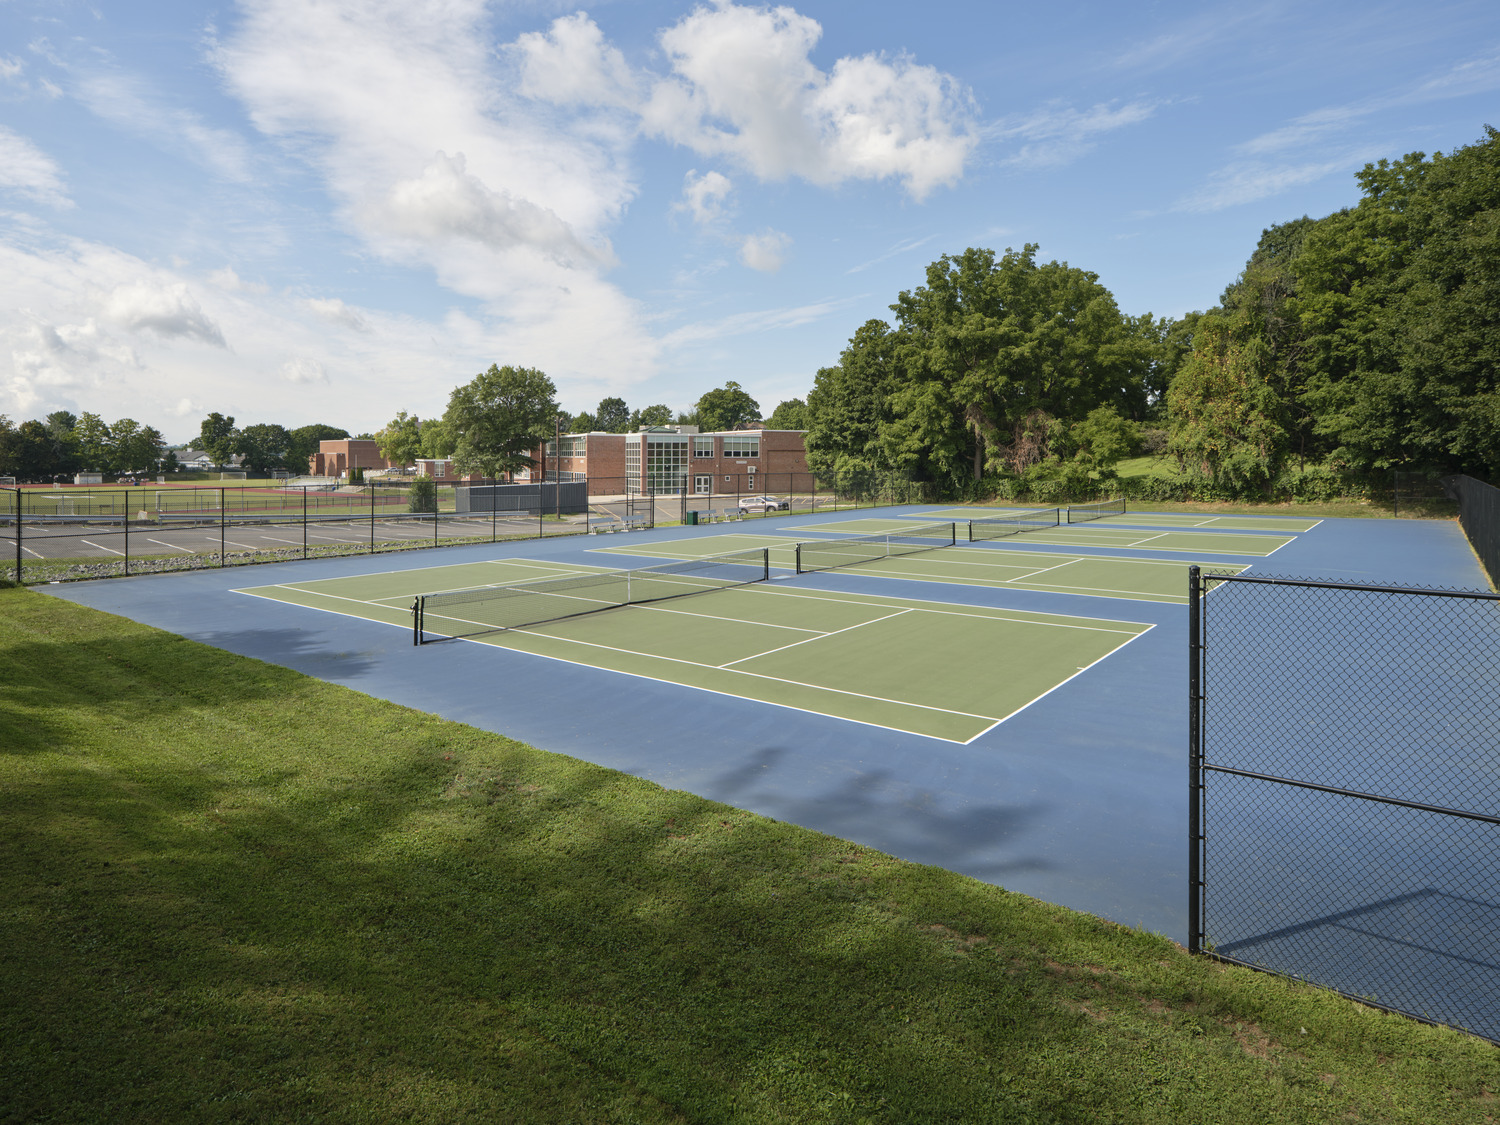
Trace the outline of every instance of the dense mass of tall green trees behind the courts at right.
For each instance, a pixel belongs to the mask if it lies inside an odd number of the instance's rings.
[[[1206,312],[1130,316],[1022,250],[927,267],[798,411],[814,471],[948,495],[1334,495],[1394,468],[1500,474],[1500,134],[1366,165],[1356,206],[1269,228]],[[780,408],[778,408],[780,410]]]

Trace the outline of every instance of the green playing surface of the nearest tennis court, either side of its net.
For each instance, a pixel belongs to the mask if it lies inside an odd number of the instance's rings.
[[[410,627],[410,606],[417,592],[456,585],[450,578],[458,574],[435,573],[440,570],[446,568],[236,592]],[[572,664],[970,742],[1149,628],[1138,622],[760,582],[471,639]],[[420,660],[422,654],[412,658]]]

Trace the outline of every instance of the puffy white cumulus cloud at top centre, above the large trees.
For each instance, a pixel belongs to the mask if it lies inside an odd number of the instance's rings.
[[[906,56],[810,54],[816,20],[722,3],[662,33],[672,74],[642,106],[645,132],[724,156],[764,180],[900,180],[915,200],[957,182],[978,138],[954,80]]]

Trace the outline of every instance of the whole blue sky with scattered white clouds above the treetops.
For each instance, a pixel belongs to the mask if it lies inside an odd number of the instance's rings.
[[[770,412],[968,246],[1208,308],[1497,94],[1494,0],[0,0],[0,414]]]

